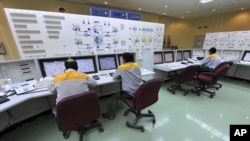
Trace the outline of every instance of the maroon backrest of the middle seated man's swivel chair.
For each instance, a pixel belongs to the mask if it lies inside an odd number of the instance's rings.
[[[163,84],[162,78],[154,78],[144,82],[135,92],[137,110],[142,110],[158,100],[158,92]]]

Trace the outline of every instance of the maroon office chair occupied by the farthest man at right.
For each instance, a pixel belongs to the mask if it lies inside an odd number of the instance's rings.
[[[198,96],[200,96],[200,92],[204,91],[210,94],[210,98],[213,98],[216,93],[208,89],[213,88],[218,79],[227,74],[229,68],[230,66],[228,64],[223,64],[216,67],[214,72],[201,72],[196,74],[194,79],[199,82],[199,86],[195,86],[191,91],[197,93]]]

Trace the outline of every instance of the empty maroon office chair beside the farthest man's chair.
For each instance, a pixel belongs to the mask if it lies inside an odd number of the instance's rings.
[[[188,81],[192,81],[195,73],[197,72],[199,68],[200,68],[199,65],[191,65],[182,69],[179,72],[175,72],[175,74],[173,75],[170,75],[170,78],[172,78],[176,84],[171,85],[171,87],[168,88],[167,90],[171,92],[172,94],[175,94],[176,90],[180,90],[180,91],[184,91],[184,95],[187,95],[189,90],[184,89],[181,86],[181,84],[188,82]]]

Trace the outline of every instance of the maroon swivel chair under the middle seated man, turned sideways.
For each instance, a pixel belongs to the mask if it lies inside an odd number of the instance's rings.
[[[148,114],[141,113],[141,110],[144,108],[154,104],[158,100],[158,92],[163,84],[163,79],[161,78],[154,78],[151,80],[148,80],[144,82],[135,92],[134,97],[131,98],[125,98],[121,97],[121,101],[126,103],[129,106],[129,109],[127,109],[124,112],[124,116],[128,115],[129,112],[132,112],[136,116],[136,120],[133,124],[130,122],[126,122],[127,127],[140,129],[142,132],[144,132],[143,126],[136,125],[138,120],[142,117],[152,117],[153,118],[153,124],[155,123],[155,116],[154,114],[148,110]]]

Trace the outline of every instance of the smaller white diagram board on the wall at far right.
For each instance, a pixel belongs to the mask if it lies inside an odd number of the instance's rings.
[[[207,33],[203,48],[250,50],[250,30]]]

